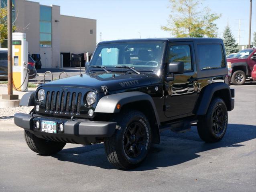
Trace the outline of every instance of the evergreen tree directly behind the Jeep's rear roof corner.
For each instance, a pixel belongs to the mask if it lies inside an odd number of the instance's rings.
[[[236,44],[236,40],[230,30],[229,26],[226,26],[224,32],[223,32],[223,42],[225,45],[226,55],[229,55],[231,53],[238,52],[238,45]]]

